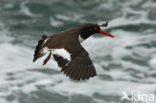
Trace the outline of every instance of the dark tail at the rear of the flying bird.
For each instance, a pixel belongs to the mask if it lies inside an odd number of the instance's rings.
[[[46,35],[43,35],[42,39],[38,41],[38,44],[37,44],[35,52],[34,52],[33,62],[35,62],[38,58],[45,55],[45,53],[42,51],[42,49],[47,40],[48,40],[48,37]]]

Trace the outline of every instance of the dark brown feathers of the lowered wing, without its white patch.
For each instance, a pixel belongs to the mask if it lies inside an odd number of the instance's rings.
[[[62,72],[74,80],[89,79],[90,77],[96,76],[96,70],[89,58],[86,50],[80,45],[75,45],[78,49],[70,51],[70,47],[64,48],[71,55],[71,60],[68,60],[60,55],[53,55],[57,61],[59,67],[62,68]]]

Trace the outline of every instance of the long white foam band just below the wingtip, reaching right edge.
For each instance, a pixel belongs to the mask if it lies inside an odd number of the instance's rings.
[[[114,85],[115,84],[115,85]],[[122,91],[126,91],[128,94],[131,91],[141,91],[145,93],[153,93],[156,84],[142,84],[133,83],[128,81],[101,81],[97,78],[90,79],[85,82],[75,83],[72,81],[62,82],[53,88],[48,87],[48,90],[52,90],[59,93],[73,94],[83,94],[88,96],[93,96],[94,93],[99,93],[102,95],[121,95]],[[152,88],[152,90],[149,89]]]

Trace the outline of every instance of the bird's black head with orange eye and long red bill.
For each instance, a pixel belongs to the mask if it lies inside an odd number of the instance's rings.
[[[108,23],[106,24],[102,24],[102,25],[97,25],[97,24],[83,24],[80,26],[80,36],[83,38],[83,39],[86,39],[88,38],[89,36],[95,34],[95,33],[102,33],[102,34],[105,34],[107,36],[110,36],[110,37],[113,37],[113,35],[103,31],[101,29],[101,27],[106,27]]]

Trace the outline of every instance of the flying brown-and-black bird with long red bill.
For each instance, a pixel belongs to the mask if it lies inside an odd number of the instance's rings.
[[[96,33],[114,38],[115,36],[102,30],[102,27],[107,27],[107,25],[108,22],[102,25],[85,23],[52,36],[43,35],[35,48],[33,62],[49,53],[43,65],[53,56],[61,72],[73,80],[88,80],[90,77],[97,76],[89,54],[81,43]]]

